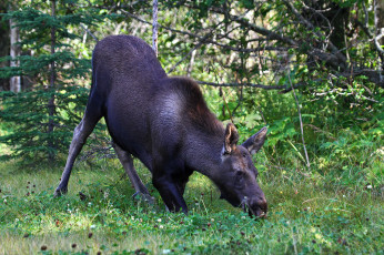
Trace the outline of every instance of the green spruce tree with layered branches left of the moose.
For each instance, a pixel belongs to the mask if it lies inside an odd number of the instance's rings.
[[[68,150],[88,96],[88,90],[74,81],[89,75],[91,68],[89,59],[78,59],[70,52],[71,40],[79,38],[72,31],[105,18],[95,9],[73,4],[74,1],[33,1],[3,16],[19,28],[21,48],[33,54],[19,57],[19,67],[0,69],[0,78],[28,75],[34,84],[28,91],[0,94],[0,120],[12,130],[0,136],[0,142],[12,147],[12,153],[2,155],[2,160],[52,161]],[[2,59],[9,60],[10,57]]]

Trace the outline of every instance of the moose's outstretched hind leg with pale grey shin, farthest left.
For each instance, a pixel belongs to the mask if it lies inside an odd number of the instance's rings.
[[[68,181],[72,172],[73,163],[75,157],[79,155],[82,146],[84,145],[88,136],[92,133],[95,124],[100,120],[93,119],[90,120],[87,118],[87,113],[84,118],[81,120],[79,125],[73,131],[73,139],[69,149],[68,159],[65,163],[64,171],[61,175],[60,184],[55,188],[54,196],[60,196],[61,194],[65,194],[68,191]]]

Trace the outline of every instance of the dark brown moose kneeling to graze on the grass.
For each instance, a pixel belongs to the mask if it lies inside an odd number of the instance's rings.
[[[67,193],[75,157],[104,118],[112,145],[135,194],[153,200],[133,167],[138,157],[171,212],[188,214],[183,198],[193,171],[219,187],[220,198],[265,216],[267,203],[251,154],[264,144],[266,128],[238,145],[239,133],[209,110],[196,82],[168,76],[153,49],[132,35],[110,35],[92,54],[92,85],[83,119],[74,129],[55,195]]]

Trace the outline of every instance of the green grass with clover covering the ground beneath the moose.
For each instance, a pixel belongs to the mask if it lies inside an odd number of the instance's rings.
[[[132,200],[117,160],[77,164],[69,194],[54,198],[61,169],[0,164],[0,254],[383,254],[383,193],[358,178],[345,184],[347,174],[329,183],[316,171],[261,171],[270,211],[254,221],[200,174],[188,185],[185,216],[168,213],[151,184],[155,206]]]

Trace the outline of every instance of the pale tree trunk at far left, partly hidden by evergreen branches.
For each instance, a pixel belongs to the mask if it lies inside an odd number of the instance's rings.
[[[20,57],[20,45],[17,44],[20,41],[20,32],[19,28],[14,27],[16,23],[13,22],[13,19],[9,21],[10,26],[10,42],[11,42],[11,50],[10,55],[12,60],[10,61],[11,68],[17,68],[20,65],[19,60],[16,60]],[[19,93],[21,91],[21,78],[20,76],[12,76],[9,81],[10,91],[14,93]]]

